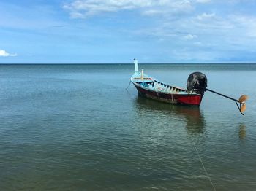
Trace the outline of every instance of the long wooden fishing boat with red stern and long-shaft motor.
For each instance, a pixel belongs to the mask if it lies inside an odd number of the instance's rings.
[[[242,95],[237,100],[235,98],[230,98],[227,95],[209,90],[206,88],[207,77],[201,72],[193,72],[190,74],[187,79],[187,89],[184,89],[148,76],[147,74],[144,74],[143,70],[138,71],[138,60],[136,59],[134,59],[134,64],[135,73],[132,75],[130,81],[135,85],[138,93],[146,98],[151,98],[169,104],[200,106],[203,95],[206,90],[208,90],[211,93],[216,93],[235,101],[241,114],[243,114],[246,109],[245,101],[247,99],[247,95]]]

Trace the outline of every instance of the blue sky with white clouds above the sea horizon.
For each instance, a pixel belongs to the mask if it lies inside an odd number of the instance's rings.
[[[0,63],[256,62],[256,0],[1,0]]]

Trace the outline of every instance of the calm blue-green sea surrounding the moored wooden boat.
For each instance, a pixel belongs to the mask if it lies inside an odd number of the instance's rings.
[[[256,64],[140,64],[186,87],[248,95],[245,116],[143,98],[133,64],[0,65],[0,190],[256,190]]]

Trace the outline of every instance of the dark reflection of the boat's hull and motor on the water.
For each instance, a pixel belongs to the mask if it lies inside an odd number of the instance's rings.
[[[165,104],[159,101],[144,98],[140,94],[138,94],[135,102],[137,108],[141,112],[145,110],[146,112],[153,112],[152,116],[154,116],[154,112],[165,112],[170,117],[176,117],[178,119],[182,118],[182,120],[186,121],[185,124],[189,133],[203,133],[206,126],[203,114],[200,112],[200,108],[197,106]],[[173,120],[173,118],[170,118],[170,120]]]

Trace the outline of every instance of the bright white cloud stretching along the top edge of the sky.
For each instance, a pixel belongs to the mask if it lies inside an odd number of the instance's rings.
[[[65,4],[71,17],[88,17],[102,12],[138,9],[143,15],[186,12],[192,9],[189,0],[75,0]]]

